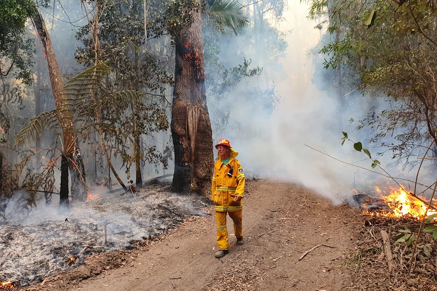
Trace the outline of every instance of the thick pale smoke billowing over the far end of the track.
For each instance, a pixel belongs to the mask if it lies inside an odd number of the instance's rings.
[[[306,18],[308,11],[303,3],[291,4],[286,13],[280,29],[291,32],[287,35],[288,48],[281,61],[282,68],[278,69],[285,76],[271,75],[280,95],[279,104],[271,115],[254,109],[256,104],[235,104],[231,116],[239,120],[241,130],[227,127],[223,136],[214,136],[214,142],[221,137],[230,140],[239,151],[238,159],[248,177],[299,183],[341,203],[354,194],[356,183],[366,182],[370,173],[341,161],[372,170],[371,161],[365,154],[356,152],[351,142],[341,145],[343,131],[352,140],[358,135],[349,119],[362,118],[366,112],[359,112],[359,108],[339,112],[335,89],[317,89],[315,82],[323,80],[315,77],[319,75],[316,72],[324,69],[320,60],[315,67],[317,60],[313,58],[323,60],[326,56],[315,56],[309,51],[318,45],[325,31],[320,32],[315,28],[317,23]],[[237,96],[238,92],[234,94]]]

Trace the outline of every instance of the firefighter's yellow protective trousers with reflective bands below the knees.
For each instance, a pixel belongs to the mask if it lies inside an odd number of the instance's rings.
[[[232,211],[232,212],[215,212],[215,219],[217,221],[217,245],[220,250],[229,250],[229,242],[228,242],[228,228],[226,226],[226,217],[229,214],[229,217],[234,222],[234,232],[237,238],[243,237],[243,216],[240,211]]]

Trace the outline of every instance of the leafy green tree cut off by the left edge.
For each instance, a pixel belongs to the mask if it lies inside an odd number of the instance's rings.
[[[13,108],[22,108],[24,85],[31,84],[31,56],[34,46],[26,37],[25,21],[33,7],[31,0],[0,1],[0,200],[12,195],[7,178],[6,149],[14,122]],[[5,159],[5,161],[4,161]]]

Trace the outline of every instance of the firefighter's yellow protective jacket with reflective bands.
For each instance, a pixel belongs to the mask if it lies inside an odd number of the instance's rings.
[[[244,196],[244,172],[240,162],[235,158],[238,152],[231,148],[231,159],[228,164],[222,162],[218,155],[214,165],[214,175],[212,176],[211,199],[215,205],[215,211],[232,212],[243,209],[243,201],[235,201],[235,195],[243,198]],[[233,169],[232,175],[228,176],[229,170]]]

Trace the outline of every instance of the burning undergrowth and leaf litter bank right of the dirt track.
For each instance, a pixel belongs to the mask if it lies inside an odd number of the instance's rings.
[[[429,197],[398,186],[354,190],[348,202],[366,217],[348,263],[357,278],[351,289],[437,290],[435,201],[427,209]]]

